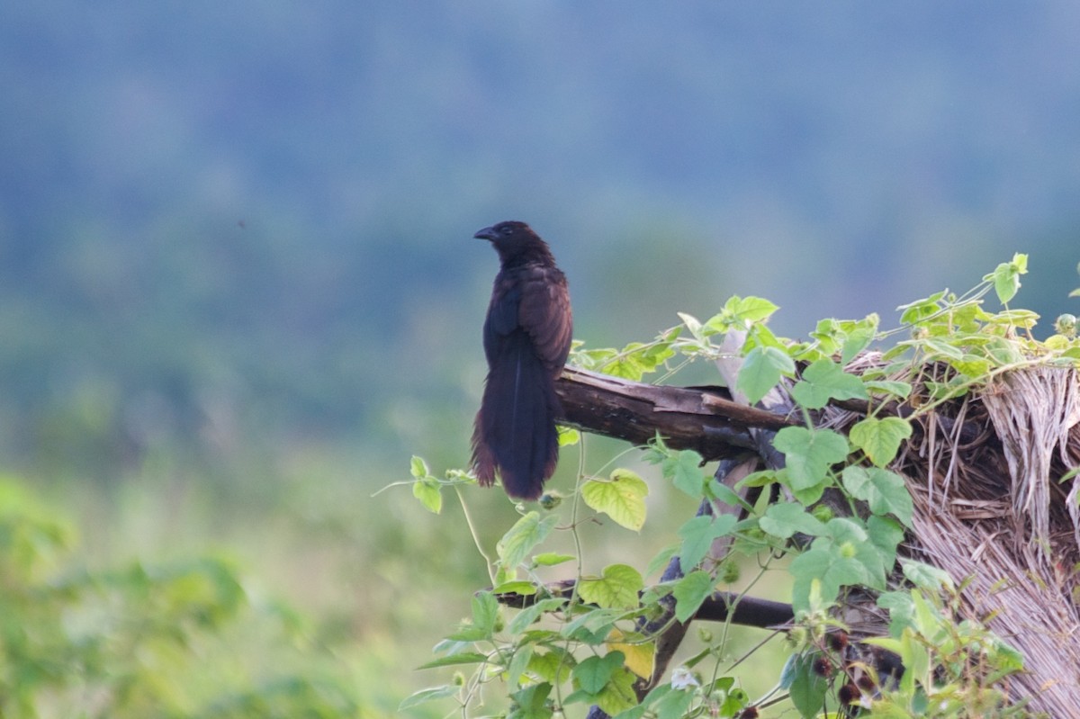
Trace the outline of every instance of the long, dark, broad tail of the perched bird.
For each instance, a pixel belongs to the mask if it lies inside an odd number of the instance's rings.
[[[484,399],[473,429],[473,466],[480,484],[491,485],[496,472],[507,493],[538,499],[558,461],[562,416],[555,378],[521,333],[494,363],[484,383]]]

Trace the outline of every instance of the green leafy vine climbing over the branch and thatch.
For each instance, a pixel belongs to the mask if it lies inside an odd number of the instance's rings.
[[[509,697],[508,717],[545,718],[573,704],[595,704],[623,719],[734,718],[756,716],[783,700],[807,719],[841,705],[875,717],[1022,716],[1023,708],[1008,706],[995,687],[1022,669],[1015,650],[984,626],[957,619],[959,594],[947,575],[919,562],[897,562],[914,507],[904,477],[892,467],[913,435],[913,419],[942,402],[1034,364],[1080,366],[1080,340],[1064,333],[1036,340],[1036,315],[1008,307],[1026,263],[1026,256],[1016,255],[969,293],[943,290],[905,304],[899,308],[901,326],[892,330],[881,330],[877,315],[829,318],[809,339],[792,341],[768,328],[774,304],[733,297],[704,322],[680,315],[680,326],[651,342],[622,350],[577,345],[572,357],[579,365],[633,380],[661,370],[663,380],[686,362],[737,352],[742,364],[735,390],[756,403],[782,386],[805,421],[773,437],[783,466],[755,472],[733,489],[704,472],[697,452],[671,449],[662,437],[650,443],[644,459],[665,481],[714,507],[739,512],[688,519],[677,542],[644,571],[620,561],[597,575],[582,573],[588,547],[578,535],[583,520],[608,520],[619,528],[615,531],[643,528],[648,484],[638,474],[626,469],[603,477],[582,474],[570,498],[552,494],[540,511],[523,510],[496,547],[494,592],[476,595],[472,618],[436,646],[438,657],[426,665],[468,666],[471,675],[414,695],[406,705],[453,696],[468,714],[495,684]],[[1004,306],[1000,312],[983,307],[990,291]],[[721,341],[730,336],[741,340],[734,349]],[[882,349],[867,363],[875,343]],[[843,403],[858,403],[862,418],[846,433],[821,425],[821,411]],[[897,412],[900,404],[909,411]],[[414,492],[435,512],[442,489],[460,490],[471,481],[459,471],[434,478],[417,458],[413,475]],[[773,488],[780,499],[750,504],[739,492],[751,487]],[[826,496],[829,503],[822,502]],[[554,532],[569,532],[577,553],[538,552]],[[728,551],[713,557],[718,540]],[[757,564],[758,578],[773,567],[784,567],[791,578],[798,626],[775,689],[760,697],[742,690],[733,671],[740,660],[732,662],[725,647],[727,624],[718,640],[685,660],[669,681],[648,684],[658,636],[672,622],[693,620],[719,587],[740,576],[747,558]],[[679,570],[672,579],[646,582],[672,561]],[[568,562],[578,567],[572,588],[553,592],[543,573]],[[894,684],[874,677],[872,689],[843,689],[854,665],[829,649],[825,637],[845,629],[836,615],[854,589],[878,596],[891,619],[889,636],[863,645],[900,657],[907,671]],[[497,593],[519,597],[524,608],[504,619],[511,610]],[[735,601],[741,596],[735,593]],[[822,661],[843,669],[824,676]],[[864,668],[873,674],[873,667]],[[649,691],[643,695],[642,688]]]

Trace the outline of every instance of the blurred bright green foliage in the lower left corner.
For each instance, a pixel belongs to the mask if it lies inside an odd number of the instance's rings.
[[[90,569],[69,523],[23,484],[0,480],[3,716],[349,717],[392,703],[359,691],[360,667],[245,587],[234,561]]]

